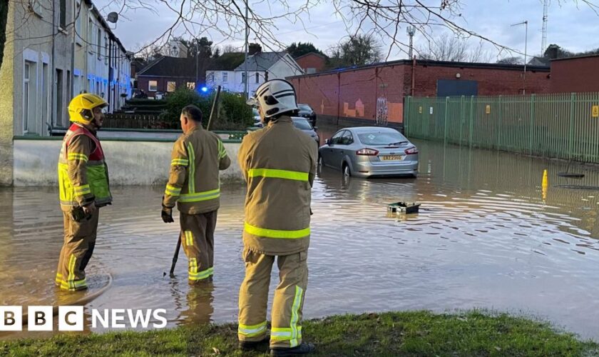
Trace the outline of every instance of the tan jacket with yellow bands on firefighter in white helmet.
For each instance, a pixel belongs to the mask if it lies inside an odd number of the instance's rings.
[[[269,255],[307,250],[317,145],[289,116],[247,134],[239,165],[247,181],[243,243]]]

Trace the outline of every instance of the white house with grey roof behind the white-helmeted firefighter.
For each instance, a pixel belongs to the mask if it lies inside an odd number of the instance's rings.
[[[242,56],[243,54],[237,55]],[[231,67],[210,66],[206,71],[206,84],[208,86],[222,86],[222,89],[226,91],[242,93],[245,91],[246,70],[250,79],[250,95],[255,94],[258,86],[268,79],[285,79],[288,76],[304,74],[302,68],[287,52],[258,51],[234,69]]]

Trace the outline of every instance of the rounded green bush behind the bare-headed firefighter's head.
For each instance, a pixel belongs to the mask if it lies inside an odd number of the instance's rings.
[[[202,124],[206,127],[214,97],[214,91],[210,95],[202,96],[192,89],[179,88],[165,99],[166,109],[160,114],[160,119],[177,124],[181,110],[189,104],[194,104],[204,114]],[[252,125],[252,109],[245,104],[243,96],[221,91],[219,102],[218,111],[210,124],[210,130],[245,130],[247,126]]]

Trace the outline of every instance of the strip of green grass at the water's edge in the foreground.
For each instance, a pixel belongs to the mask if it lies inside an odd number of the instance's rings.
[[[599,356],[599,345],[545,322],[469,311],[332,316],[303,323],[317,356]],[[234,324],[0,342],[8,356],[263,356],[237,350]]]

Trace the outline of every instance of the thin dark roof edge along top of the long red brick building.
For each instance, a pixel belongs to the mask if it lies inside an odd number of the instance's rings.
[[[287,79],[304,78],[310,76],[322,76],[325,74],[335,74],[346,71],[359,71],[360,69],[369,69],[375,67],[385,66],[411,66],[412,61],[409,59],[400,59],[398,61],[379,62],[376,64],[366,64],[364,66],[352,66],[342,69],[331,69],[329,71],[317,72],[314,74],[301,74],[299,76],[288,76]],[[450,62],[450,61],[432,61],[429,59],[417,59],[416,65],[418,66],[439,66],[439,67],[457,67],[457,68],[476,68],[476,69],[504,69],[508,71],[522,71],[524,68],[523,64],[479,64],[470,62]],[[527,71],[539,71],[548,72],[548,66],[526,66]]]

